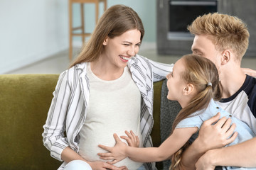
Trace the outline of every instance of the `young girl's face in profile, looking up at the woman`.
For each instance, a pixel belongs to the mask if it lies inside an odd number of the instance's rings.
[[[174,64],[173,71],[166,76],[168,79],[168,95],[167,98],[180,103],[183,97],[183,89],[186,88],[186,82],[181,78],[181,73],[185,70],[185,64],[182,59]]]

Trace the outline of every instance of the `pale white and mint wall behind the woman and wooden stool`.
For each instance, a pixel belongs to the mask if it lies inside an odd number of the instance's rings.
[[[107,7],[124,4],[137,11],[146,31],[142,47],[156,40],[155,0],[107,0]],[[100,5],[100,13],[103,13]],[[80,25],[79,5],[73,24]],[[95,27],[95,6],[85,5],[85,29]],[[80,38],[73,45],[80,47]],[[0,0],[0,74],[68,50],[68,0]],[[67,56],[68,57],[68,56]]]

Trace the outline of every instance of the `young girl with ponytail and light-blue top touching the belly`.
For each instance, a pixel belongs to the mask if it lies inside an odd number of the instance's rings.
[[[110,164],[114,164],[125,157],[136,162],[160,162],[173,156],[170,169],[180,169],[182,150],[196,139],[203,121],[213,117],[215,113],[220,113],[220,118],[229,118],[228,121],[231,120],[236,124],[233,137],[236,135],[238,137],[230,145],[255,137],[245,123],[234,118],[215,103],[214,100],[219,100],[221,97],[221,85],[218,70],[210,60],[197,55],[185,55],[176,62],[173,72],[166,78],[169,89],[167,98],[178,101],[182,107],[174,121],[171,135],[159,147],[138,148],[127,146],[114,134],[117,142],[114,147],[99,145],[109,151],[98,154],[102,159],[112,160]],[[128,143],[137,142],[137,137],[132,132],[128,136],[122,138],[129,140]],[[223,169],[236,168],[223,167]]]

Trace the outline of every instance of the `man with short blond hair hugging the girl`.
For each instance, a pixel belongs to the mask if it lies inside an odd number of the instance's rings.
[[[218,68],[223,85],[223,99],[218,104],[256,134],[256,79],[240,68],[250,36],[245,23],[234,16],[209,13],[196,18],[188,30],[195,35],[192,52],[210,59]],[[212,125],[218,119],[215,115],[203,123],[198,138],[183,153],[184,169],[195,169],[195,164],[202,170],[215,166],[256,167],[256,137],[224,147],[237,134],[233,134],[235,125],[230,127],[230,119],[222,118]]]

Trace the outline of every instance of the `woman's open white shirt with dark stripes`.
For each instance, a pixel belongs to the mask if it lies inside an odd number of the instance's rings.
[[[142,94],[141,130],[144,147],[152,147],[150,133],[153,128],[153,82],[165,79],[173,64],[153,62],[136,55],[128,62],[132,79]],[[60,157],[65,147],[79,152],[80,129],[85,123],[90,96],[90,84],[87,78],[86,63],[60,74],[53,92],[46,124],[43,125],[43,145],[50,150],[51,157],[63,161]],[[66,133],[66,135],[64,134]],[[145,164],[146,169],[156,169],[154,163]],[[60,169],[65,167],[65,162]]]

